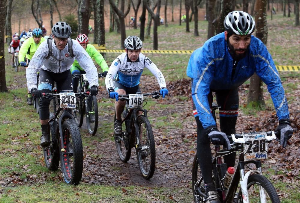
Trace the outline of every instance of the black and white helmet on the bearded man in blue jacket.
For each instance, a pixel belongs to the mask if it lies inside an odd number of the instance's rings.
[[[225,30],[230,34],[247,35],[254,32],[255,22],[244,11],[232,11],[224,19]]]

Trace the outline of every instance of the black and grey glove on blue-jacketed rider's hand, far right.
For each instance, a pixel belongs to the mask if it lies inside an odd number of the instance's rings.
[[[283,148],[285,148],[287,140],[292,137],[294,132],[289,119],[279,120],[279,125],[276,129],[276,132],[276,137],[279,139],[280,145],[282,145]]]

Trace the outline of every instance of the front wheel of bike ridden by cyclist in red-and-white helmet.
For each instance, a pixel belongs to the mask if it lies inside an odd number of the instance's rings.
[[[88,96],[87,110],[85,114],[86,126],[91,135],[95,135],[98,129],[98,103],[96,96]]]

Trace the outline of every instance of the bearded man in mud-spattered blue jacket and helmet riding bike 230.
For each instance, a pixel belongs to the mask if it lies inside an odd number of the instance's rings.
[[[230,142],[226,135],[235,133],[238,116],[238,87],[256,73],[267,85],[279,119],[278,138],[283,147],[292,136],[284,89],[272,57],[258,38],[251,36],[255,22],[248,13],[233,11],[224,20],[225,32],[207,40],[196,49],[187,66],[192,78],[193,114],[197,123],[197,156],[203,175],[206,202],[220,202],[212,183],[211,149],[213,144]],[[210,107],[215,92],[220,108],[220,131]],[[235,154],[224,157],[227,166],[234,166]]]

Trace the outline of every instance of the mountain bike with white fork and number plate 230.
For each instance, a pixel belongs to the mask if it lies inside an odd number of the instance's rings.
[[[215,110],[219,107],[212,106],[215,119]],[[268,155],[268,143],[276,139],[274,131],[250,132],[245,134],[232,134],[231,149],[220,150],[215,145],[215,155],[212,157],[213,183],[221,202],[280,202],[277,192],[271,182],[262,175],[261,160]],[[238,164],[231,178],[228,188],[224,185],[224,177],[227,170],[226,163],[222,163],[222,157],[231,153],[238,153]],[[256,168],[253,169],[255,165]],[[252,166],[252,168],[250,167]],[[245,167],[249,169],[245,173]],[[199,168],[197,154],[193,160],[192,190],[194,202],[205,202],[206,193],[202,173]]]

